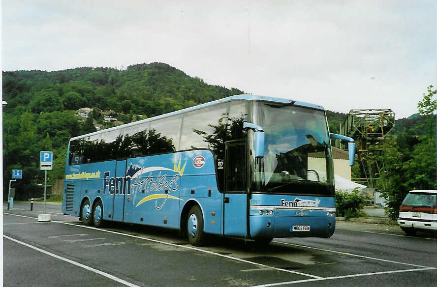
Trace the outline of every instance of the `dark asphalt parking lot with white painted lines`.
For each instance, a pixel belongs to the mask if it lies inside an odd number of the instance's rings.
[[[83,226],[47,205],[3,204],[3,286],[411,286],[437,282],[432,234],[339,222],[331,238],[275,238],[268,246],[211,236],[197,248],[177,231]],[[38,211],[39,210],[39,211]],[[431,235],[431,236],[430,236]],[[431,284],[432,285],[432,284]]]

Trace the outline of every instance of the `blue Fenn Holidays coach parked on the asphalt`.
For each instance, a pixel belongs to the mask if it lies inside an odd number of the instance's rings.
[[[260,243],[330,237],[334,170],[322,107],[235,95],[72,138],[62,211]],[[349,143],[353,160],[354,144]],[[353,162],[352,162],[353,164]]]

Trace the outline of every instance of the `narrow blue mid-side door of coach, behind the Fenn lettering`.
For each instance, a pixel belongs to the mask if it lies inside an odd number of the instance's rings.
[[[125,210],[125,178],[126,178],[126,161],[117,161],[115,169],[115,193],[114,193],[114,210],[113,220],[123,221]]]

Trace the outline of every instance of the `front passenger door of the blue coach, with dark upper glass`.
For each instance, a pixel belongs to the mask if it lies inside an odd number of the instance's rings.
[[[226,143],[224,235],[247,236],[246,146],[241,141]]]

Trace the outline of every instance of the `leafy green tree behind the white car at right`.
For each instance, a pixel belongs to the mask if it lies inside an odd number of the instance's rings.
[[[436,111],[436,90],[428,87],[428,94],[418,103],[421,114]],[[387,200],[387,213],[393,220],[399,216],[399,207],[410,190],[437,189],[436,172],[436,118],[426,121],[427,135],[399,135],[397,139],[386,139],[379,144],[380,152],[375,157],[383,163],[378,187]],[[410,129],[414,132],[414,129]],[[399,140],[399,141],[398,141]]]

